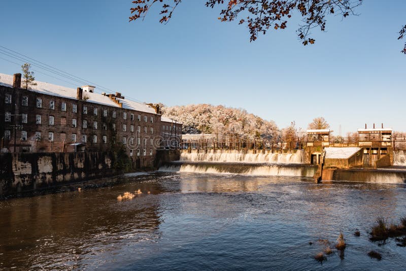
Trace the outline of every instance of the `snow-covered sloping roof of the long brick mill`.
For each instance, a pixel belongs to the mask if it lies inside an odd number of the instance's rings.
[[[54,85],[54,84],[50,84],[50,83],[46,83],[46,82],[40,82],[40,81],[35,81],[35,82],[37,83],[37,85],[30,87],[31,88],[30,90],[33,92],[76,99],[76,89],[74,89],[74,88],[58,86],[58,85]],[[7,75],[7,74],[0,74],[0,85],[6,86],[6,87],[13,87],[13,76]],[[101,95],[99,93],[94,93],[94,92],[87,92],[87,91],[84,91],[83,95],[87,95],[89,97],[89,99],[87,99],[87,101],[89,103],[118,107],[118,105],[116,103],[114,103],[114,101],[111,100],[108,96]],[[155,109],[149,105],[139,103],[138,101],[132,101],[132,100],[126,100],[126,99],[118,99],[118,100],[120,100],[120,102],[123,104],[123,108],[125,108],[125,109],[156,114]]]

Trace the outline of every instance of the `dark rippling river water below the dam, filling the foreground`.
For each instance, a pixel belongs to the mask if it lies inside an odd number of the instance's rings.
[[[406,215],[404,184],[188,172],[108,180],[0,201],[0,269],[404,270],[406,248],[367,233],[379,216]],[[317,262],[340,232],[344,253]]]

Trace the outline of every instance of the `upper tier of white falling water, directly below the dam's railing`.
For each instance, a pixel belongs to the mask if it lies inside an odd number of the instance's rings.
[[[273,153],[270,151],[238,151],[238,150],[192,150],[190,153],[183,150],[181,161],[205,161],[205,162],[244,162],[244,163],[278,163],[300,164],[302,163],[303,151],[297,150],[290,153]]]

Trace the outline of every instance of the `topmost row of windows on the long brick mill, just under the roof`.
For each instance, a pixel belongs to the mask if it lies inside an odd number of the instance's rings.
[[[12,103],[10,93],[6,93],[5,103],[6,104],[11,104]],[[28,97],[27,96],[22,96],[21,105],[22,106],[28,106]],[[42,98],[37,98],[37,108],[42,108]],[[55,110],[55,101],[54,100],[49,101],[49,109]],[[62,103],[61,103],[61,111],[66,112],[66,103],[64,101],[62,101]],[[76,104],[72,104],[72,112],[73,113],[78,112],[78,106]],[[83,106],[83,114],[87,114],[87,112],[88,112],[87,106]],[[115,118],[116,114],[117,114],[116,111],[113,110],[112,117]],[[93,115],[97,116],[97,107],[93,108]],[[107,116],[108,116],[107,109],[103,109],[103,117],[107,117]],[[127,119],[127,112],[123,112],[123,119]],[[134,114],[133,113],[130,114],[130,120],[134,120]],[[137,116],[137,120],[141,121],[141,115]],[[148,122],[148,117],[147,116],[144,116],[144,122]],[[150,117],[150,122],[151,123],[154,122],[154,118],[152,116]]]

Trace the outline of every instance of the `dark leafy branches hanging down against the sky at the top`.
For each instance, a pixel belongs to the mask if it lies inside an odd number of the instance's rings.
[[[163,4],[159,22],[167,23],[182,0],[136,0],[130,9],[130,21],[144,19],[154,4]],[[206,0],[206,7],[221,7],[222,22],[238,20],[239,24],[246,24],[250,32],[250,41],[255,41],[258,33],[265,34],[269,28],[285,29],[292,15],[301,16],[302,24],[297,29],[297,36],[303,45],[314,44],[310,37],[315,27],[326,30],[329,15],[340,15],[346,18],[356,15],[355,9],[362,4],[362,0]],[[399,31],[398,39],[406,34],[406,25]],[[406,54],[406,43],[401,51]]]

